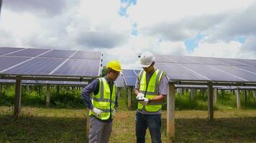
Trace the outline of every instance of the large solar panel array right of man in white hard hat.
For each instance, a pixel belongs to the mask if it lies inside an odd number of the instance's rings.
[[[256,82],[256,60],[156,55],[171,81]]]

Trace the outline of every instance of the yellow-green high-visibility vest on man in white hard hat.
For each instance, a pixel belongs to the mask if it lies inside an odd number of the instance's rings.
[[[159,96],[158,88],[163,74],[165,74],[164,71],[160,71],[159,69],[155,70],[147,85],[146,72],[143,70],[140,71],[140,74],[138,75],[140,81],[140,93],[145,94],[145,98],[153,99],[154,97]],[[138,109],[142,110],[142,108],[143,104],[138,103]],[[154,103],[151,102],[145,106],[145,110],[147,112],[158,112],[160,109],[162,109],[162,101]]]

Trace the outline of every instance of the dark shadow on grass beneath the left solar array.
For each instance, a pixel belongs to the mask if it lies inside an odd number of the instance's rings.
[[[86,142],[86,118],[0,114],[0,142]]]

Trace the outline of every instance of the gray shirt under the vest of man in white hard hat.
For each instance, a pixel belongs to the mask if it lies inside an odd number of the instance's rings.
[[[152,77],[152,74],[146,74],[147,84],[150,81],[150,78]],[[168,79],[163,74],[162,79],[160,80],[159,87],[158,87],[158,94],[166,96],[167,95],[167,87],[168,87]],[[136,84],[135,84],[135,87],[134,87],[134,91],[135,90],[140,92],[139,74],[138,74],[137,81],[136,81]],[[147,112],[145,110],[145,107],[143,107],[142,110],[137,109],[137,112],[140,112],[142,114],[161,114],[161,110],[159,110],[158,112]]]

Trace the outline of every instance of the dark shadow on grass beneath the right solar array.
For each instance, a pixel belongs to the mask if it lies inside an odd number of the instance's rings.
[[[166,119],[162,132],[166,134]],[[256,142],[256,117],[175,119],[173,142]]]

